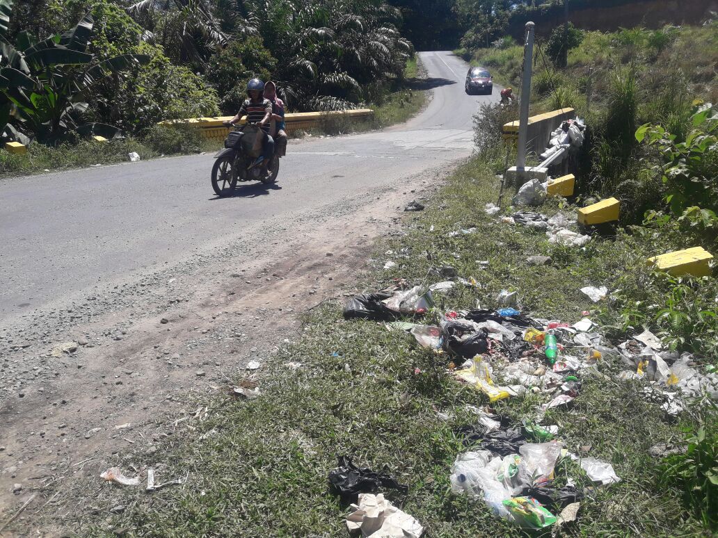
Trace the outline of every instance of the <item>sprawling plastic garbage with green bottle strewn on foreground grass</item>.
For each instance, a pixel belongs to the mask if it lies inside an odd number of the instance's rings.
[[[521,219],[550,221],[526,214]],[[353,298],[345,317],[386,321],[388,330],[408,331],[419,346],[444,358],[457,382],[483,392],[489,402],[527,393],[544,395],[530,423],[511,425],[490,409],[473,407],[476,422],[457,430],[467,452],[459,454],[452,466],[452,490],[482,499],[493,514],[521,527],[543,529],[575,519],[583,491],[570,478],[566,486],[554,487],[554,468],[561,458],[579,461],[597,486],[620,481],[610,463],[569,453],[561,443],[558,425],[545,423],[547,410],[570,406],[579,397],[582,379],[607,379],[602,364],[623,365],[620,378],[646,379],[644,396],[657,401],[669,415],[684,409],[686,397],[702,392],[718,397],[716,374],[701,374],[690,354],[663,349],[660,339],[648,330],[613,346],[589,312],[572,324],[532,317],[518,309],[518,296],[509,291],[495,298],[503,305],[498,310],[438,311],[432,289],[451,288],[445,282],[404,283]],[[606,290],[589,287],[584,293],[605,296]],[[429,315],[436,322],[421,323]],[[400,321],[406,316],[411,321]]]

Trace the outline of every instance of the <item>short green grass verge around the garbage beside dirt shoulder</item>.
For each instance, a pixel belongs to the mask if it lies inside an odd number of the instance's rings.
[[[493,308],[495,293],[508,288],[519,291],[523,308],[537,317],[575,321],[585,310],[595,318],[617,314],[617,306],[598,308],[579,288],[612,289],[625,271],[644,275],[641,260],[653,251],[651,239],[620,232],[581,249],[549,245],[544,234],[502,224],[483,212],[498,197],[494,174],[495,168],[480,159],[460,167],[424,212],[406,218],[406,235],[376,247],[378,268],[388,249],[405,257],[395,256],[395,268],[373,270],[361,284],[375,290],[393,278],[421,283],[430,267],[449,264],[460,275],[475,277],[479,287],[439,296],[441,311],[477,303]],[[563,204],[554,200],[541,211],[558,212]],[[448,237],[466,227],[477,232]],[[536,254],[550,255],[551,265],[528,264],[526,258]],[[187,486],[151,495],[107,486],[94,499],[92,513],[71,516],[77,535],[110,537],[112,529],[125,528],[126,537],[342,536],[345,507],[327,489],[327,473],[342,454],[360,466],[386,468],[408,484],[406,497],[388,497],[419,519],[427,536],[526,535],[490,516],[482,503],[449,489],[449,468],[465,450],[452,430],[470,420],[462,407],[488,401],[454,382],[445,371],[446,359],[381,323],[345,321],[335,303],[311,313],[300,334],[271,359],[261,397],[233,401],[220,395],[201,402],[210,407],[208,418],[172,435],[158,450],[167,455],[163,475],[189,473]],[[286,367],[289,361],[304,366],[295,371]],[[619,367],[605,361],[600,369],[615,374]],[[623,481],[593,489],[577,524],[558,534],[709,535],[681,504],[681,490],[659,481],[659,462],[648,453],[652,445],[681,439],[679,426],[694,428],[696,414],[686,412],[680,423],[666,421],[656,404],[639,396],[640,381],[585,375],[582,382],[576,405],[548,412],[546,423],[559,425],[569,450],[589,445],[590,456],[612,462]],[[519,421],[533,418],[544,400],[528,395],[496,407]],[[437,410],[454,418],[439,420]],[[126,461],[141,466],[145,459],[136,453]],[[569,476],[579,487],[590,485],[577,465],[564,459],[556,481],[564,483]],[[108,509],[117,504],[126,505],[126,511],[108,519]]]

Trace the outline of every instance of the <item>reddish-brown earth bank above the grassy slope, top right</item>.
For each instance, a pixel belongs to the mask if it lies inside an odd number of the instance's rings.
[[[569,0],[569,20],[584,30],[613,32],[619,28],[661,28],[665,24],[701,24],[718,11],[718,0]],[[546,37],[564,24],[564,8],[535,9],[513,16],[509,33],[523,40],[523,27],[536,23],[536,35]]]

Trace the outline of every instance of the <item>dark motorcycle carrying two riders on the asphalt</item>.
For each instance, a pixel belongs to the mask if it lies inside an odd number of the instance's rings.
[[[264,136],[264,131],[257,123],[248,123],[228,134],[225,147],[215,154],[217,160],[212,167],[212,188],[218,196],[232,194],[237,181],[261,181],[264,184],[276,182],[279,156],[275,151],[266,176],[262,176],[261,143],[258,143],[258,136]]]

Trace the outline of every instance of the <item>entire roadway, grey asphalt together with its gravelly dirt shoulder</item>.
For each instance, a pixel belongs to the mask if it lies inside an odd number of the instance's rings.
[[[75,530],[110,502],[102,471],[159,461],[193,398],[250,360],[271,372],[297,313],[356,292],[373,238],[401,232],[401,207],[470,155],[472,115],[498,100],[466,95],[450,53],[421,60],[426,110],[290,141],[269,188],[218,199],[210,155],[0,180],[0,526],[39,492],[4,535]]]

